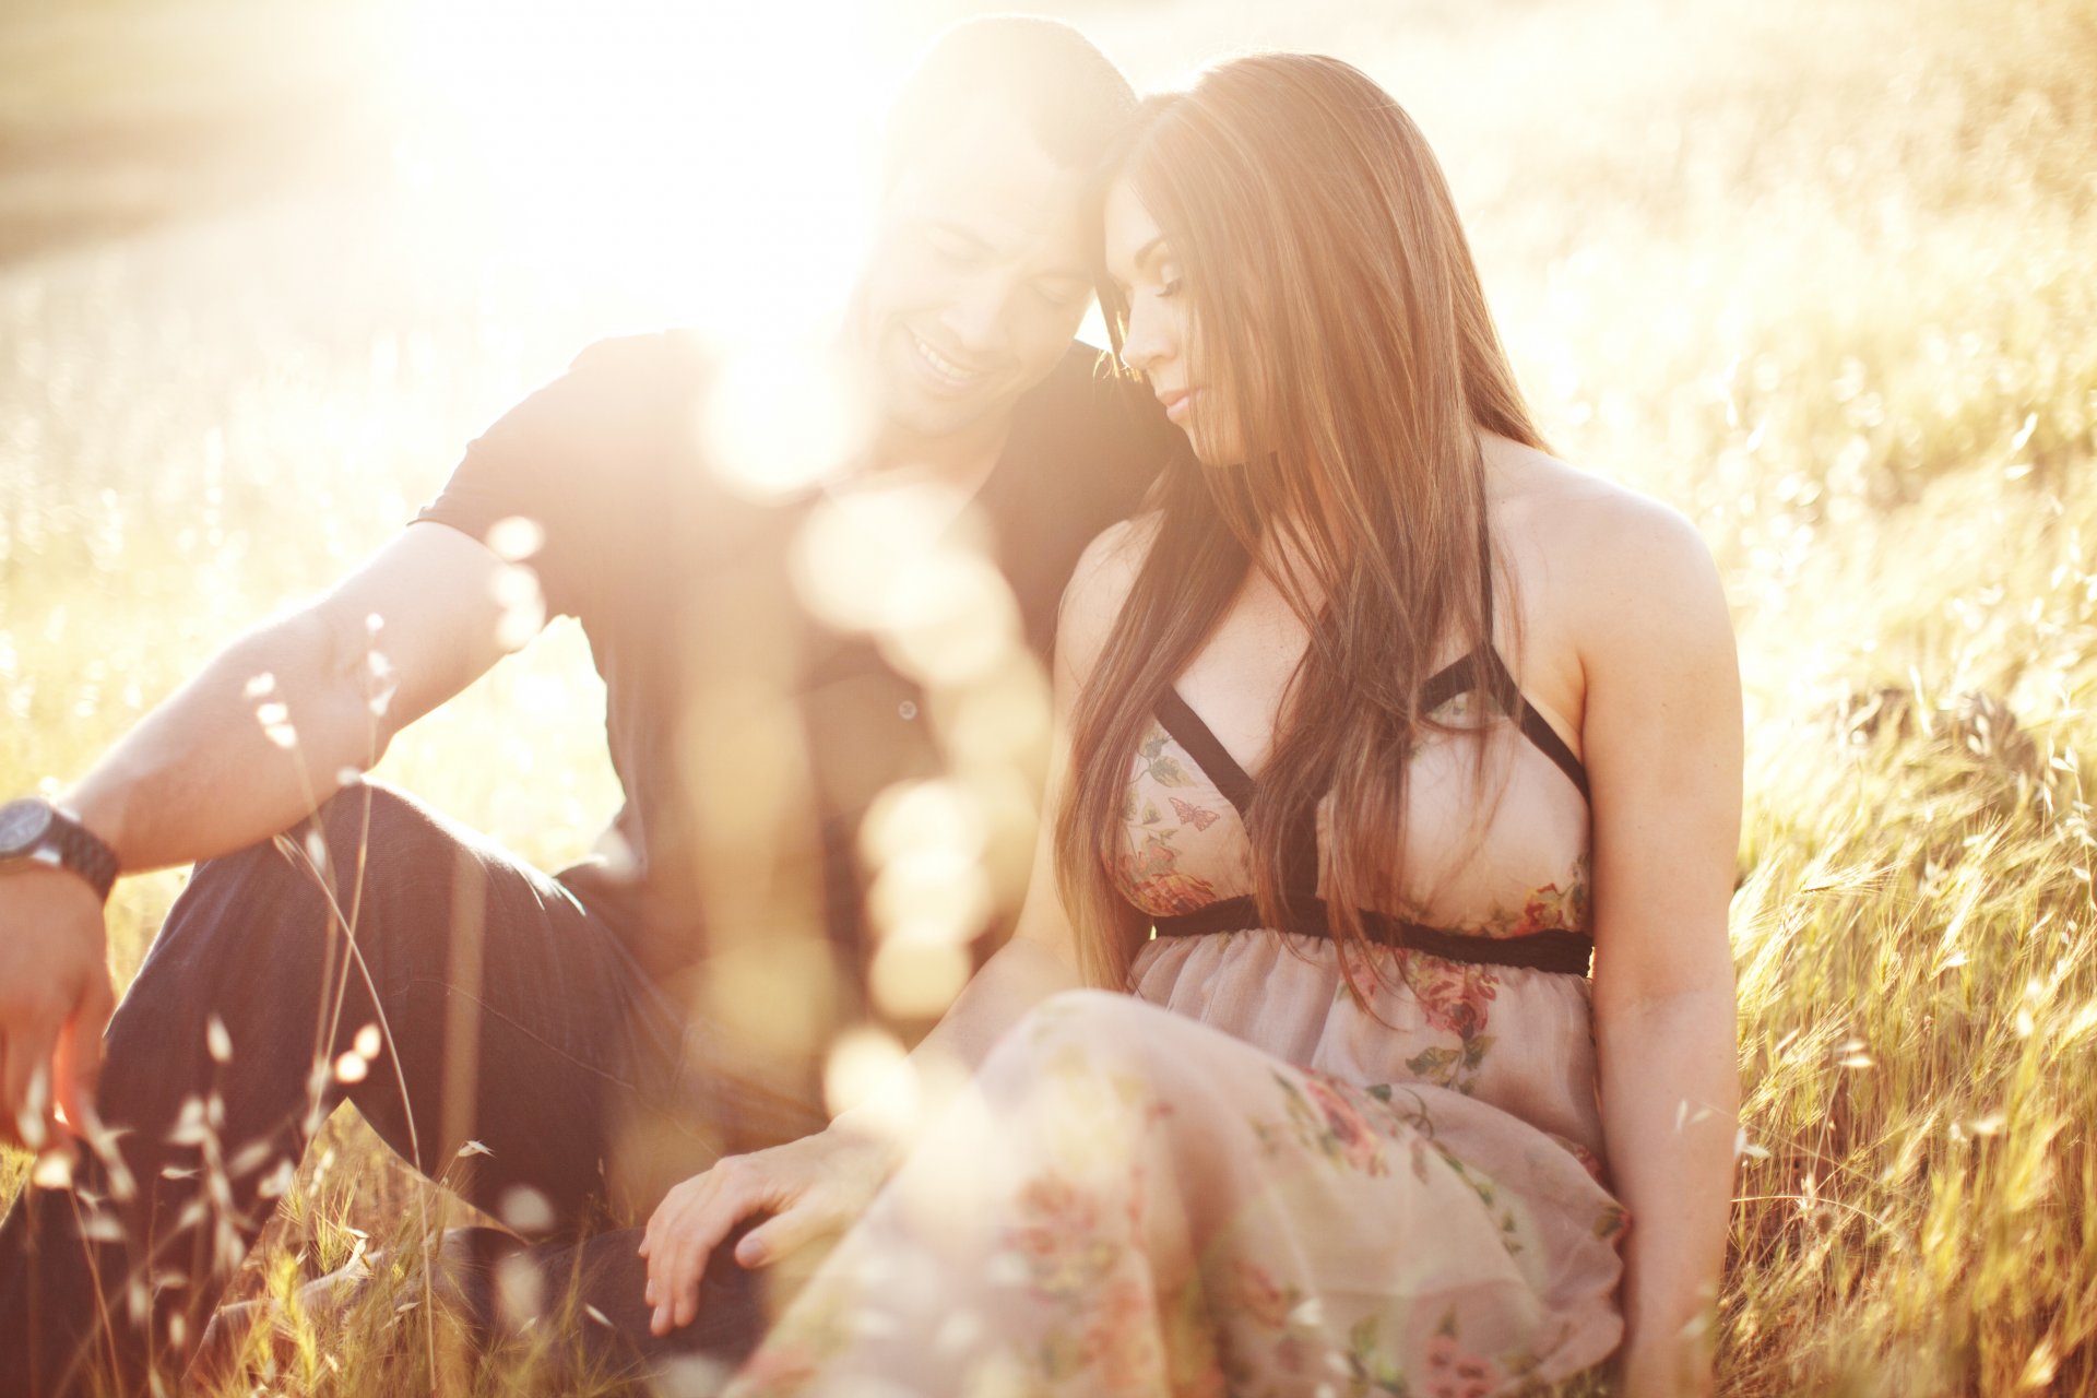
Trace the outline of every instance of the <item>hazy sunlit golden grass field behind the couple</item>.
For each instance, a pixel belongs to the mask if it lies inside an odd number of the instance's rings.
[[[589,340],[818,314],[889,90],[994,8],[4,0],[0,792],[336,578]],[[2097,1381],[2097,4],[1028,8],[1139,88],[1241,48],[1384,82],[1560,455],[1717,553],[1728,1392]],[[600,715],[562,622],[382,776],[552,868],[614,807]],[[120,891],[122,975],[178,880]]]

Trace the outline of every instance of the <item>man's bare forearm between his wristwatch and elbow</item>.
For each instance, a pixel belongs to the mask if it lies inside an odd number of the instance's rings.
[[[384,750],[367,654],[319,608],[273,620],[147,715],[65,803],[124,872],[264,840]]]

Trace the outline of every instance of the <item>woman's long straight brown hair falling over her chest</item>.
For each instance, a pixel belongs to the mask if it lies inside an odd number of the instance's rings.
[[[1340,966],[1361,908],[1403,889],[1407,759],[1436,660],[1491,641],[1478,432],[1541,446],[1441,168],[1359,69],[1260,54],[1153,99],[1118,163],[1185,268],[1191,373],[1244,465],[1181,457],[1120,618],[1078,698],[1057,870],[1090,977],[1134,945],[1114,884],[1143,729],[1262,568],[1311,631],[1250,811],[1260,920],[1317,889],[1290,868],[1321,803]],[[1128,306],[1107,279],[1114,348]],[[1302,560],[1302,572],[1273,560]],[[1309,576],[1304,576],[1304,572]],[[1480,759],[1483,761],[1483,759]],[[1483,771],[1483,767],[1480,767]]]

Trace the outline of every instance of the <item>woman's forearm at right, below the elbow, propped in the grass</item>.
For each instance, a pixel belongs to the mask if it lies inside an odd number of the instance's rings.
[[[1625,1241],[1625,1392],[1705,1392],[1732,1211],[1738,1079],[1730,993],[1619,1010],[1600,1027],[1602,1123]],[[1690,1381],[1676,1375],[1688,1364]]]

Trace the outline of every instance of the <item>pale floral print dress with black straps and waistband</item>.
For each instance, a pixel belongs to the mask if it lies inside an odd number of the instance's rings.
[[[1000,1040],[730,1392],[1491,1398],[1602,1362],[1585,773],[1491,650],[1422,711],[1460,731],[1413,755],[1363,1002],[1317,905],[1256,924],[1256,786],[1168,694],[1116,870],[1158,929],[1134,993]]]

